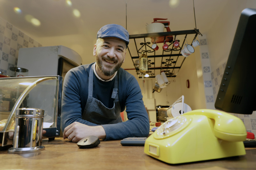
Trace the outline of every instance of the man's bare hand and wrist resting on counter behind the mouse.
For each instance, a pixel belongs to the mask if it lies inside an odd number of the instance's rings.
[[[63,139],[68,138],[72,142],[78,142],[87,136],[96,136],[100,139],[106,138],[106,132],[102,126],[88,126],[79,122],[68,125],[63,132]]]

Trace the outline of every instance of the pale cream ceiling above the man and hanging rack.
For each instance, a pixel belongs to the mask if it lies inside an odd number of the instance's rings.
[[[197,28],[204,34],[228,1],[70,0],[68,5],[66,0],[0,0],[0,17],[43,46],[63,45],[75,50],[83,64],[88,64],[95,61],[92,49],[96,34],[106,24],[122,25],[130,35],[143,34],[153,18],[168,18],[171,31]],[[174,2],[177,4],[171,5]],[[21,12],[15,12],[14,7]],[[76,17],[74,10],[80,16]],[[38,19],[40,26],[28,22],[31,17]],[[122,67],[134,68],[128,52]]]

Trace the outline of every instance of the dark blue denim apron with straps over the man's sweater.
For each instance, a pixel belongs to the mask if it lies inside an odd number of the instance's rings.
[[[122,122],[120,115],[121,107],[118,99],[118,78],[115,76],[115,85],[111,98],[115,99],[112,108],[106,107],[100,100],[92,97],[93,90],[93,65],[89,73],[88,99],[84,108],[82,118],[86,121],[103,125]],[[106,99],[108,100],[108,99]]]

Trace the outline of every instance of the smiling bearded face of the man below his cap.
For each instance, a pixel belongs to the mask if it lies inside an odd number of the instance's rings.
[[[93,48],[97,63],[96,71],[99,70],[100,75],[104,77],[112,76],[124,63],[125,49],[126,43],[118,38],[99,38]]]

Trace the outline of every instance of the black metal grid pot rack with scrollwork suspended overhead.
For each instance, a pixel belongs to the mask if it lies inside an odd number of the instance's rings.
[[[136,67],[135,61],[139,59],[140,55],[146,53],[148,56],[148,72],[150,73],[148,78],[155,78],[157,74],[160,74],[161,71],[164,71],[167,77],[176,77],[182,64],[184,63],[186,57],[181,54],[183,46],[187,43],[187,38],[190,36],[192,41],[196,39],[197,35],[201,34],[198,29],[194,30],[184,30],[184,31],[171,31],[171,32],[162,32],[162,33],[145,33],[145,34],[134,34],[130,35],[130,43],[128,46],[128,51],[132,58],[134,68],[137,72],[139,78],[142,78],[143,75],[140,74],[138,66]],[[151,46],[151,38],[164,36],[173,36],[173,40],[165,42],[168,44],[168,49],[164,50],[162,45],[164,43],[157,43],[159,49],[155,51]],[[202,34],[201,34],[202,35]],[[192,36],[192,38],[191,38]],[[194,37],[193,37],[194,36]],[[181,38],[180,38],[181,37]],[[148,38],[148,39],[146,39]],[[131,41],[133,39],[133,41]],[[149,41],[150,40],[150,41]],[[177,40],[180,43],[180,47],[174,48],[173,42]],[[192,44],[192,41],[190,44]],[[135,46],[136,54],[131,54],[131,47]],[[134,47],[132,47],[134,48]],[[196,50],[196,49],[195,49]],[[134,50],[135,51],[135,50]],[[161,61],[159,60],[161,59]],[[159,72],[158,72],[159,71]]]

